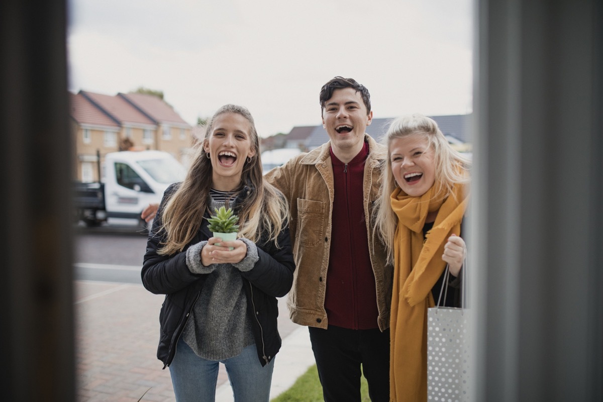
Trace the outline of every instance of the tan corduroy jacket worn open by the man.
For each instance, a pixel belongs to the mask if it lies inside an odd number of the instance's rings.
[[[390,326],[391,287],[393,267],[386,265],[385,252],[379,239],[373,236],[371,216],[379,198],[380,166],[385,147],[365,134],[369,155],[364,167],[364,215],[367,224],[368,250],[376,282],[378,324],[380,330]],[[288,306],[291,320],[300,325],[327,328],[324,309],[329,250],[333,233],[333,166],[330,142],[308,153],[292,158],[283,166],[265,175],[285,194],[291,209],[289,230],[295,257],[293,287]]]

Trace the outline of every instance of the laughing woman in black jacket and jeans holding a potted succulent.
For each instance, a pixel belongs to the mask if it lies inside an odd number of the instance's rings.
[[[221,206],[239,216],[236,240],[207,228]],[[291,289],[295,269],[288,215],[282,194],[263,180],[251,114],[219,108],[185,180],[163,196],[142,267],[148,291],[166,295],[157,357],[178,402],[213,401],[219,362],[235,400],[268,401],[281,345],[276,298]]]

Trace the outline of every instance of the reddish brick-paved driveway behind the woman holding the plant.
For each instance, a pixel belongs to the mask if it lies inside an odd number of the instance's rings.
[[[147,390],[143,401],[174,402],[169,369],[156,357],[163,296],[140,284],[98,281],[74,281],[74,293],[78,402],[136,402]],[[289,320],[284,299],[279,311],[283,348],[275,360],[276,394],[314,363],[307,330]],[[216,401],[232,400],[228,388],[220,365]]]

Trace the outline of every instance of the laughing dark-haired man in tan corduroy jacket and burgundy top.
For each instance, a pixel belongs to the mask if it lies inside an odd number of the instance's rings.
[[[362,366],[371,401],[388,402],[393,267],[371,220],[386,152],[365,133],[366,87],[335,77],[320,105],[329,142],[265,175],[290,207],[290,316],[309,327],[325,401],[360,401]]]

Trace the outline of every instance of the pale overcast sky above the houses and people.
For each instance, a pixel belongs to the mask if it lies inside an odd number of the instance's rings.
[[[162,90],[191,125],[249,108],[260,136],[321,123],[336,75],[374,118],[472,111],[472,0],[69,0],[69,90]]]

